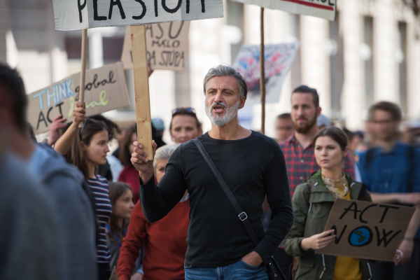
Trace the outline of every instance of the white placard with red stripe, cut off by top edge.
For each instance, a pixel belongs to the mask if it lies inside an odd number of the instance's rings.
[[[337,0],[232,0],[241,3],[258,5],[263,8],[284,10],[298,15],[313,15],[325,20],[335,20]]]

